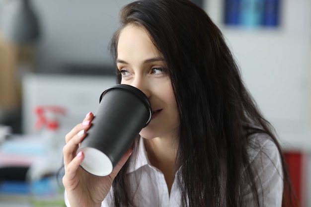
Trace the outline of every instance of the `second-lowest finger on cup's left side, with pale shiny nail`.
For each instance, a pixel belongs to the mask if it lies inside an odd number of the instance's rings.
[[[65,166],[68,165],[76,156],[76,151],[78,149],[78,144],[85,138],[86,131],[81,130],[71,138],[68,143],[63,147],[63,154],[64,154],[64,164]]]

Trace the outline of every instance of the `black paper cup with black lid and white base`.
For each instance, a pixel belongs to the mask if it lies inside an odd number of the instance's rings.
[[[118,84],[105,90],[77,150],[85,155],[80,166],[93,175],[109,175],[151,116],[150,102],[138,88]]]

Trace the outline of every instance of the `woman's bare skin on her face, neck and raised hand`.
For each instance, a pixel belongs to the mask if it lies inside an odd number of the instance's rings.
[[[139,88],[151,103],[154,112],[152,120],[140,135],[145,138],[151,163],[164,174],[170,192],[174,181],[173,167],[178,141],[176,132],[179,124],[166,64],[146,30],[140,26],[128,25],[122,30],[117,51],[116,63],[122,75],[121,83]],[[100,207],[102,200],[109,193],[113,179],[132,153],[132,149],[129,149],[108,176],[93,176],[84,171],[79,166],[84,154],[76,155],[76,151],[79,143],[85,138],[93,117],[94,115],[89,113],[82,123],[66,135],[66,145],[63,148],[63,184],[71,207]],[[81,131],[83,133],[79,133]]]

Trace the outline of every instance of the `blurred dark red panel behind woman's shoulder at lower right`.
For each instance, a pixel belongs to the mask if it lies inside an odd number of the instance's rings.
[[[293,191],[297,197],[299,206],[302,205],[303,190],[303,153],[301,152],[285,152],[285,162],[288,165],[289,176],[292,182]],[[295,201],[295,199],[293,198]],[[295,206],[296,207],[296,206]]]

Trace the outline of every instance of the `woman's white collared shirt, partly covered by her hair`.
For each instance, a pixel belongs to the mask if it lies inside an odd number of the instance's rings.
[[[250,147],[248,149],[250,163],[256,166],[258,173],[256,183],[259,187],[262,185],[262,191],[259,191],[259,200],[263,201],[262,206],[264,207],[281,207],[283,171],[278,149],[267,135],[255,134],[252,137],[252,142],[260,146],[256,150]],[[143,138],[141,138],[139,149],[133,153],[137,153],[137,161],[131,163],[127,176],[130,177],[131,184],[135,184],[131,185],[132,189],[129,191],[130,198],[134,198],[135,207],[180,207],[181,198],[176,179],[169,195],[164,175],[148,160]],[[136,185],[138,183],[139,185]],[[244,192],[244,207],[254,206],[250,187],[247,186]],[[65,201],[67,207],[70,207],[66,194]],[[101,207],[113,206],[113,191],[111,189]]]

